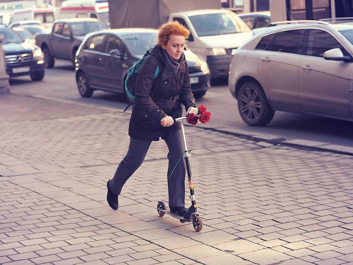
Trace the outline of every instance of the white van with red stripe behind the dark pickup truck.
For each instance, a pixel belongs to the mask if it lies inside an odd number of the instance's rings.
[[[108,0],[66,0],[60,8],[60,19],[97,18],[109,27]]]

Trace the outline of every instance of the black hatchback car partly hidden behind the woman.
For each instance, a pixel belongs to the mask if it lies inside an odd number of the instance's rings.
[[[94,90],[124,93],[128,69],[154,47],[157,30],[142,28],[110,29],[86,35],[76,53],[78,92],[90,97]],[[184,50],[189,65],[191,89],[201,97],[211,86],[210,70],[190,50]],[[128,100],[128,98],[126,98]]]

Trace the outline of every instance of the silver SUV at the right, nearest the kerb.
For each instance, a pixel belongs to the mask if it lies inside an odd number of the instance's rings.
[[[244,122],[276,110],[353,121],[353,25],[287,21],[257,29],[233,50],[229,90]]]

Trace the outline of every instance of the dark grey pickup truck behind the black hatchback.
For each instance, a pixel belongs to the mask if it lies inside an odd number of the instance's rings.
[[[47,68],[54,67],[54,59],[69,60],[74,65],[78,47],[86,34],[107,29],[95,18],[68,18],[55,20],[52,32],[36,35],[36,44],[42,48]]]

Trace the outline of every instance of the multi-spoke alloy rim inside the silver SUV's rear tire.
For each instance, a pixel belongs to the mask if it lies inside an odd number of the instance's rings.
[[[240,95],[240,111],[241,115],[249,121],[259,118],[261,102],[255,90],[245,88],[244,93]]]

